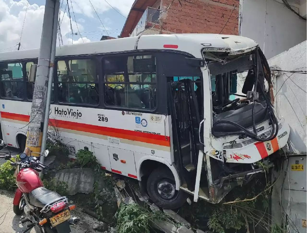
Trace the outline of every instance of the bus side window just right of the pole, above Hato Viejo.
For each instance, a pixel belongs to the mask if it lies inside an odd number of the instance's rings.
[[[91,59],[57,62],[58,99],[62,103],[99,104],[96,62]]]

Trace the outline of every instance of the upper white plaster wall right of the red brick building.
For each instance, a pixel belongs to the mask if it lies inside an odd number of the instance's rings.
[[[307,21],[278,0],[240,0],[240,12],[240,35],[255,40],[267,58],[307,39]]]

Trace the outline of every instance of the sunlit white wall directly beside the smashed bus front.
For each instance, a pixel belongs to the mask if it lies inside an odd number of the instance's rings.
[[[270,67],[307,71],[307,40],[271,58]],[[291,152],[307,152],[307,72],[281,72],[273,79],[275,109],[290,125]]]

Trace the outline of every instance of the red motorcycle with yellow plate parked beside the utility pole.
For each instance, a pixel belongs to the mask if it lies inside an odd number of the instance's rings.
[[[45,150],[41,156],[47,157],[48,154],[49,151]],[[10,160],[12,166],[17,166],[15,174],[17,174],[18,188],[13,201],[13,210],[16,215],[25,212],[21,223],[28,223],[27,228],[20,233],[28,232],[35,226],[38,226],[42,233],[71,232],[70,225],[76,225],[79,222],[78,218],[70,214],[76,206],[68,205],[66,197],[44,187],[38,172],[48,166],[41,163],[38,160],[39,157],[30,155],[30,149],[25,148],[24,153],[19,155],[19,159],[15,157],[16,161],[11,160],[13,156],[10,155],[0,156]]]

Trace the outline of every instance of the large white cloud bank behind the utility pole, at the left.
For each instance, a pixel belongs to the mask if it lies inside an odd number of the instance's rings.
[[[26,13],[27,4],[27,0],[10,0],[10,3],[5,3],[3,0],[0,0],[0,52],[17,49],[16,44],[19,43],[24,19],[25,24],[21,37],[21,48],[30,49],[40,46],[45,6],[29,4]],[[70,21],[67,13],[61,12],[60,20],[62,21],[60,29],[63,43],[71,43],[71,40],[67,39],[68,34],[71,34]],[[72,31],[74,33],[78,32],[76,22],[72,21],[71,23]],[[78,27],[80,31],[84,29],[79,23]],[[82,42],[81,38],[80,40]],[[84,42],[90,41],[87,38],[83,38],[83,40]],[[74,41],[74,43],[79,43],[79,40]]]

